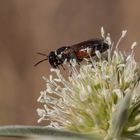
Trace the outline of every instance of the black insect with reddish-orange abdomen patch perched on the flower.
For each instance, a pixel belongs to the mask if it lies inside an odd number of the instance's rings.
[[[102,53],[105,52],[108,48],[109,45],[103,39],[90,39],[71,46],[60,47],[55,51],[51,51],[49,55],[44,53],[37,53],[39,55],[45,56],[46,58],[37,62],[35,66],[46,60],[49,61],[53,68],[59,68],[59,66],[63,67],[63,63],[65,61],[70,62],[73,59],[75,59],[76,62],[80,64],[84,58],[95,56],[96,50]]]

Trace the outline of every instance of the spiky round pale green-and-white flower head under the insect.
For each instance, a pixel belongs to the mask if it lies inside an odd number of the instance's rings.
[[[109,44],[105,54],[96,51],[91,63],[77,66],[72,62],[67,77],[58,69],[51,69],[49,78],[43,77],[46,89],[40,92],[38,122],[46,120],[49,127],[82,134],[96,134],[103,139],[134,138],[140,135],[140,69],[131,53],[119,50],[110,35],[101,35]]]

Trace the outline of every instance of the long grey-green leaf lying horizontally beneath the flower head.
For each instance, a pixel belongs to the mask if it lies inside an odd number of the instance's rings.
[[[60,139],[76,139],[76,140],[99,140],[99,138],[96,138],[94,136],[88,137],[87,135],[78,134],[74,132],[64,131],[60,129],[54,129],[54,128],[48,128],[43,126],[25,126],[25,125],[7,125],[7,126],[0,126],[0,136],[5,137],[55,137]]]

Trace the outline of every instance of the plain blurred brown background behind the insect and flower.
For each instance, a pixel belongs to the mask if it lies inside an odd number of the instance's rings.
[[[100,37],[117,41],[128,30],[122,50],[140,44],[139,0],[0,0],[0,125],[37,124],[36,102],[49,76],[48,62],[33,65],[63,45]],[[136,49],[140,61],[140,47]]]

